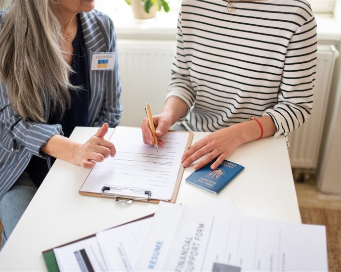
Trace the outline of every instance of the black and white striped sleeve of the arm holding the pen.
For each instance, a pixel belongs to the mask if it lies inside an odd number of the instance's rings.
[[[171,82],[166,99],[171,96],[177,97],[187,105],[188,109],[195,101],[195,90],[191,84],[189,69],[183,43],[180,12],[177,21],[176,53],[171,66]]]

